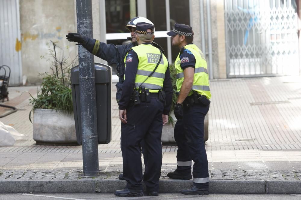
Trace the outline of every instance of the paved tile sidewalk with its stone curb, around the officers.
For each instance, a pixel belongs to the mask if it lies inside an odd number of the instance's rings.
[[[122,155],[114,95],[112,141],[98,145],[100,175],[84,177],[81,146],[44,146],[33,141],[29,94],[20,94],[27,90],[36,95],[36,88],[9,88],[10,101],[5,104],[19,110],[0,121],[28,138],[12,147],[0,147],[0,193],[113,192],[123,188],[125,181],[118,180]],[[206,142],[210,192],[301,193],[301,77],[212,80],[210,88],[213,98]],[[161,193],[179,192],[192,183],[166,177],[176,168],[176,150],[173,144],[163,145]]]

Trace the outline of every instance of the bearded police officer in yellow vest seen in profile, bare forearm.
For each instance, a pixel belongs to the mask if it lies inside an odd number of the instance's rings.
[[[209,111],[209,76],[205,56],[192,43],[191,26],[175,23],[174,29],[167,33],[172,45],[180,49],[175,60],[178,92],[175,117],[178,119],[174,135],[178,145],[177,169],[167,174],[172,179],[191,179],[191,160],[193,165],[193,185],[182,189],[186,195],[209,194],[208,161],[204,143],[204,118]]]

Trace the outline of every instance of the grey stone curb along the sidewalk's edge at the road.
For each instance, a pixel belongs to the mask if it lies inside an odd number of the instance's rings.
[[[159,193],[179,193],[191,180],[160,180]],[[124,180],[0,180],[0,193],[113,193]],[[210,193],[301,194],[301,181],[210,180]],[[144,188],[145,189],[145,188]]]

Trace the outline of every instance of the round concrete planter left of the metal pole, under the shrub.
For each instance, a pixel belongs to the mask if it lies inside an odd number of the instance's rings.
[[[33,111],[33,139],[36,144],[76,145],[73,113],[35,109]]]

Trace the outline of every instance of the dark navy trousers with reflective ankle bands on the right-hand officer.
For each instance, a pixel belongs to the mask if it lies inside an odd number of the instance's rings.
[[[183,119],[175,124],[175,141],[178,145],[177,171],[183,175],[191,174],[193,165],[194,185],[209,181],[208,160],[204,143],[204,119],[209,105],[192,104],[183,108]]]

